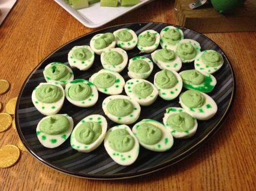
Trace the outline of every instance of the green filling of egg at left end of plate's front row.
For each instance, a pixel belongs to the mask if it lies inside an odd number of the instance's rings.
[[[69,129],[69,120],[63,115],[53,115],[43,119],[39,129],[48,135],[59,135]]]

